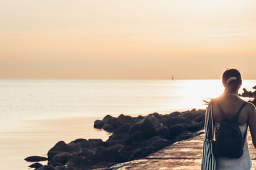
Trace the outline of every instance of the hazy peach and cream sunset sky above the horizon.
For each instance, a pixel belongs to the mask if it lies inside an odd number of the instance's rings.
[[[256,1],[3,0],[0,78],[256,79]]]

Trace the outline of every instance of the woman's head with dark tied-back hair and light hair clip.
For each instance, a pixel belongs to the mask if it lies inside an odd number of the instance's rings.
[[[242,84],[241,74],[237,69],[227,69],[222,74],[222,83],[225,87],[224,94],[237,92]]]

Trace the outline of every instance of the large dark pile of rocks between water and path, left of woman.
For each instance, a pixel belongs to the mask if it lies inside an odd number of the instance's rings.
[[[95,128],[112,133],[107,141],[76,139],[68,144],[60,141],[47,153],[48,165],[37,163],[36,169],[95,169],[140,159],[198,135],[197,131],[204,128],[204,119],[205,110],[195,109],[168,115],[152,113],[146,117],[107,115],[94,122]]]

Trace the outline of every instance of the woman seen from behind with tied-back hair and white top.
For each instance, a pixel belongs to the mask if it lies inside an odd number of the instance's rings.
[[[237,111],[240,108],[240,114],[237,116],[237,125],[244,136],[243,155],[239,158],[228,157],[216,157],[217,169],[250,169],[252,167],[252,161],[248,150],[248,143],[246,139],[247,126],[250,128],[252,136],[253,146],[256,148],[256,111],[255,106],[252,103],[245,103],[243,99],[238,97],[238,90],[241,87],[242,80],[241,74],[237,69],[228,69],[223,73],[222,83],[225,87],[223,94],[212,99],[207,104],[212,104],[212,117],[213,124],[216,127],[216,132],[220,129],[220,124],[223,122],[223,115],[232,115],[234,118]],[[244,104],[243,104],[244,103]],[[244,105],[244,106],[242,106]],[[224,114],[223,114],[224,113]],[[211,117],[210,117],[211,120]],[[206,121],[205,121],[206,122]],[[209,127],[211,127],[211,121],[209,121]],[[211,128],[209,128],[211,131]],[[208,139],[212,139],[211,132],[207,136]]]

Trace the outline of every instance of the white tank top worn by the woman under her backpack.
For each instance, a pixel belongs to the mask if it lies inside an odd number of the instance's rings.
[[[216,129],[220,128],[219,123],[215,123]],[[239,125],[239,129],[241,131],[242,136],[244,136],[246,132],[246,127],[247,124],[244,125]],[[243,155],[242,157],[239,157],[237,159],[230,159],[226,157],[216,157],[216,164],[217,164],[217,169],[218,170],[248,170],[251,169],[252,167],[252,160],[250,157],[250,152],[248,149],[248,143],[247,143],[247,134],[245,137],[245,143],[244,143],[244,148],[243,148]]]

